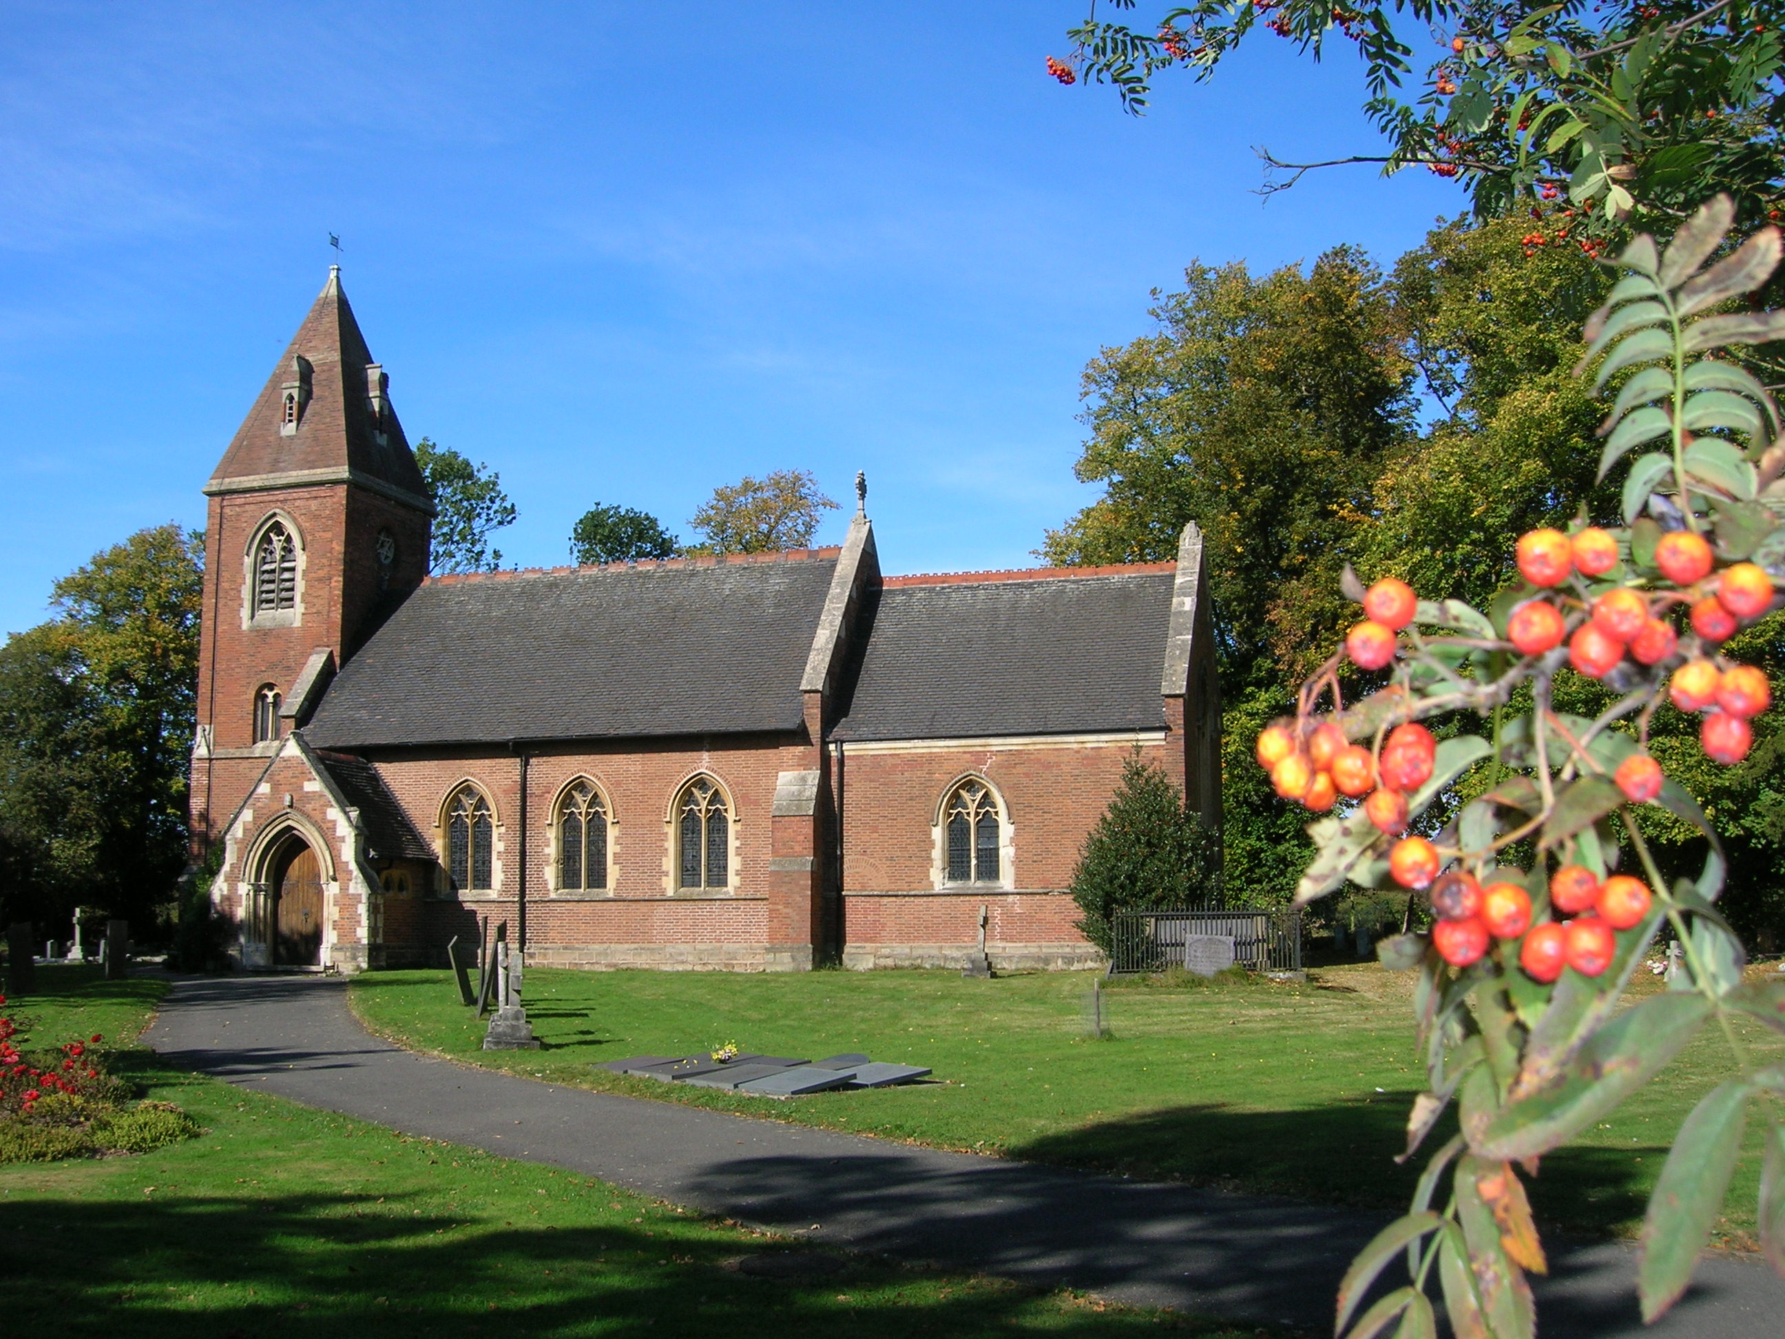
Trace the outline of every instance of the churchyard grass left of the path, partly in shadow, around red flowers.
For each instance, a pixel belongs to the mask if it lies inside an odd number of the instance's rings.
[[[37,1035],[134,1037],[162,982],[39,971]],[[1171,1312],[834,1255],[821,1277],[739,1271],[784,1237],[603,1182],[245,1093],[118,1055],[205,1127],[139,1157],[0,1168],[0,1278],[25,1334],[1251,1335]]]

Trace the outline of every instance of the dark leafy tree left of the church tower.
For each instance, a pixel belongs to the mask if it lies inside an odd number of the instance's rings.
[[[148,925],[186,862],[202,536],[141,530],[59,580],[57,618],[0,648],[7,911]]]

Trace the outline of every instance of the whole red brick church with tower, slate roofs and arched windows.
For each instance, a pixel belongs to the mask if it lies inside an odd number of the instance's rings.
[[[882,575],[841,548],[428,577],[334,273],[205,484],[193,834],[248,968],[1096,962],[1066,887],[1132,750],[1219,814],[1201,539]]]

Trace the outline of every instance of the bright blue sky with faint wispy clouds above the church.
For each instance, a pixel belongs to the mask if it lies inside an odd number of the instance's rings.
[[[1082,0],[20,4],[0,52],[5,630],[198,493],[327,277],[411,439],[502,473],[509,562],[596,502],[857,470],[889,571],[1030,566],[1094,496],[1078,375],[1187,262],[1392,261],[1453,186],[1349,55],[1266,36],[1146,118],[1064,89]],[[844,512],[821,541],[834,541]]]

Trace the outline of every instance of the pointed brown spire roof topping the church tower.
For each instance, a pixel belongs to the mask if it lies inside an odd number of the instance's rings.
[[[303,407],[298,430],[287,437],[280,434],[280,418],[286,382],[296,378],[291,368],[296,353],[312,366],[311,402]],[[341,291],[341,277],[330,273],[205,489],[214,493],[266,475],[352,470],[432,507],[403,425],[391,409],[386,409],[384,441],[378,441],[368,396],[366,368],[371,362],[366,337]]]

